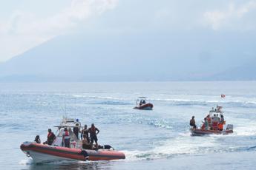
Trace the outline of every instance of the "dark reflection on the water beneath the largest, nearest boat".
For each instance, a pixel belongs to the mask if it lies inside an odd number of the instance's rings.
[[[103,162],[65,162],[65,163],[42,163],[35,164],[32,163],[30,166],[27,166],[27,169],[90,169],[90,170],[101,170],[101,169],[111,169],[111,162],[103,161]]]

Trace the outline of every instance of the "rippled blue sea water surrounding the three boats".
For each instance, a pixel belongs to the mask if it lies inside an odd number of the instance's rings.
[[[225,94],[226,98],[220,98]],[[153,111],[132,109],[139,96]],[[233,135],[191,137],[220,104]],[[99,143],[126,160],[35,165],[19,149],[59,125],[63,115],[95,123]],[[255,169],[256,82],[24,83],[0,84],[1,169]]]

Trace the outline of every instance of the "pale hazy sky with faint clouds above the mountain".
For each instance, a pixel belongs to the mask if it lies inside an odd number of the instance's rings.
[[[256,31],[256,0],[8,0],[0,2],[0,14],[0,61],[83,27],[92,32],[94,27],[198,34]],[[98,20],[100,28],[90,25]]]

